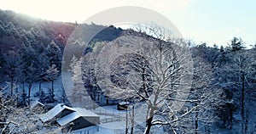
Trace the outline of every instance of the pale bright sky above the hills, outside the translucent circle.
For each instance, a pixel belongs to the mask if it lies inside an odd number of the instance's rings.
[[[1,9],[67,22],[83,22],[104,9],[119,6],[152,9],[195,42],[225,46],[233,36],[241,37],[247,46],[256,42],[255,0],[0,0]]]

